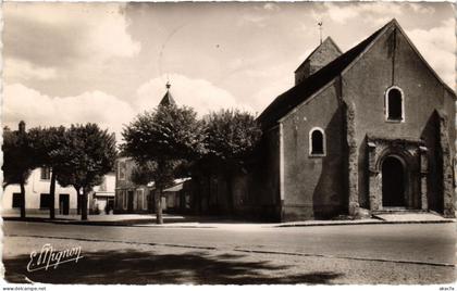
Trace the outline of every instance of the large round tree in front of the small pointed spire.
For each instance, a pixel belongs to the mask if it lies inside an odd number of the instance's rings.
[[[198,159],[205,152],[202,123],[190,107],[175,104],[159,105],[145,112],[124,128],[122,150],[138,165],[148,165],[148,176],[156,186],[157,224],[163,224],[161,198],[173,185],[185,161]]]

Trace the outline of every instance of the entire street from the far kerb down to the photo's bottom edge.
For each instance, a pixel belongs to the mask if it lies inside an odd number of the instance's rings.
[[[3,231],[10,281],[398,284],[455,278],[455,224],[173,228],[4,222]],[[45,243],[82,246],[84,258],[28,273],[30,252]]]

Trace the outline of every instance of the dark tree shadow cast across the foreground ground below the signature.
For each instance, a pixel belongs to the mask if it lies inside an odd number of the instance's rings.
[[[4,258],[9,282],[102,283],[102,284],[259,284],[331,283],[342,274],[291,274],[291,266],[268,261],[248,262],[245,255],[193,252],[155,254],[136,250],[85,252],[78,263],[65,263],[55,269],[28,273],[28,255]]]

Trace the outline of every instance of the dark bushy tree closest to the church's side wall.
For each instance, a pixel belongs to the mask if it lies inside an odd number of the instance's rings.
[[[262,131],[251,114],[238,110],[221,110],[205,116],[205,144],[207,154],[200,161],[203,173],[224,175],[234,210],[232,177],[245,169]]]

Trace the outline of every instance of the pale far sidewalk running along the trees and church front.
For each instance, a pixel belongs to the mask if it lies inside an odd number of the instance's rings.
[[[17,216],[3,216],[3,220],[21,220]],[[159,227],[159,228],[221,228],[221,229],[251,229],[273,227],[312,227],[312,226],[344,226],[344,225],[380,225],[380,224],[443,224],[455,223],[456,219],[444,218],[432,213],[422,214],[383,214],[365,219],[337,220],[302,220],[291,223],[255,223],[236,220],[218,216],[182,216],[163,215],[163,225],[156,224],[155,214],[114,214],[89,215],[88,220],[81,220],[79,215],[57,215],[54,220],[48,215],[30,215],[25,222],[39,222],[66,225],[95,225],[95,226],[131,226],[131,227]]]

